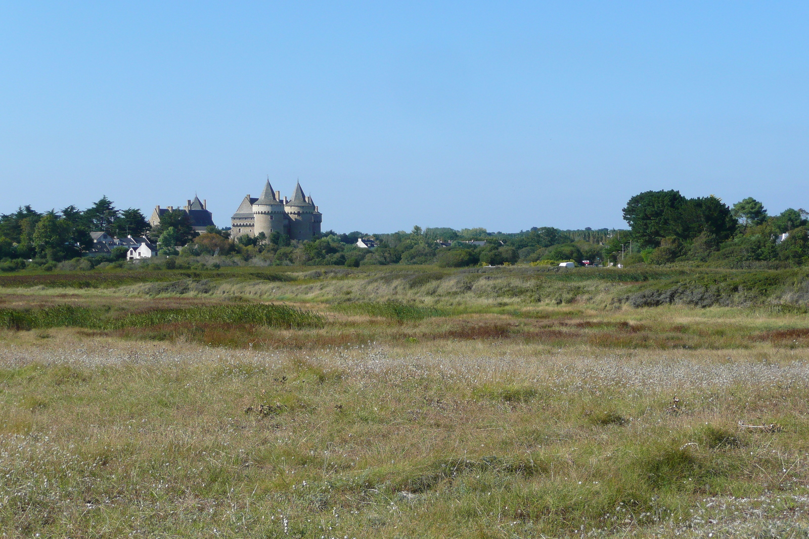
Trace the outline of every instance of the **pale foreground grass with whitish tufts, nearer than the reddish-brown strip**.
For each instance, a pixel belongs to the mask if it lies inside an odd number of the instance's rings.
[[[16,356],[42,360],[0,369],[12,535],[678,537],[732,528],[733,500],[761,496],[752,533],[783,512],[805,522],[790,501],[809,480],[805,367],[745,386],[772,368],[649,352],[515,364],[472,343],[432,360],[184,345],[83,364],[15,335]],[[97,358],[111,343],[83,346]],[[697,367],[714,373],[682,376]],[[677,381],[682,414],[666,413],[660,377]],[[785,428],[743,434],[742,416]]]

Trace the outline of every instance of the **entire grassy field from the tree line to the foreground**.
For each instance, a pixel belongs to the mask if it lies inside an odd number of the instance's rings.
[[[0,528],[807,537],[805,277],[0,276]]]

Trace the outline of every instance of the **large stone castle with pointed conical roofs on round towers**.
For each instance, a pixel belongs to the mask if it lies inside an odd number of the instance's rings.
[[[258,198],[245,196],[239,209],[231,217],[231,236],[257,236],[262,232],[265,236],[277,232],[286,234],[290,239],[311,239],[320,234],[320,222],[323,214],[311,201],[311,196],[304,196],[301,184],[295,186],[292,200],[284,197],[281,192],[273,191],[273,186],[267,184]]]

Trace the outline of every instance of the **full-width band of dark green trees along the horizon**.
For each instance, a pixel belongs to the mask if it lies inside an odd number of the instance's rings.
[[[0,215],[0,269],[11,271],[32,264],[78,267],[76,260],[92,247],[91,230],[118,237],[146,236],[159,254],[190,263],[193,257],[215,255],[221,263],[345,265],[437,264],[464,267],[506,263],[708,263],[739,266],[749,263],[809,262],[807,212],[788,208],[769,215],[764,205],[748,197],[733,206],[716,196],[687,198],[678,191],[648,191],[629,199],[623,209],[628,229],[561,230],[534,227],[518,233],[483,228],[452,229],[414,226],[409,232],[338,234],[328,230],[311,241],[294,241],[284,234],[242,235],[208,227],[198,234],[188,213],[166,212],[154,229],[137,208],[116,209],[106,196],[90,208],[71,205],[38,213],[30,205]],[[786,236],[785,236],[786,234]],[[373,249],[356,245],[371,236]],[[87,269],[125,259],[125,248],[108,257],[83,259]],[[74,261],[72,265],[66,261]],[[153,261],[155,262],[155,261]]]

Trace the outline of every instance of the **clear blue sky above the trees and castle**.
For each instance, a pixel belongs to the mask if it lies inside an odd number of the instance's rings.
[[[324,229],[809,208],[809,2],[2,2],[0,213],[269,175]]]

